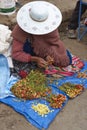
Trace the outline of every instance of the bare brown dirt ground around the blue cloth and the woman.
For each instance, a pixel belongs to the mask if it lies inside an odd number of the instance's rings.
[[[21,4],[29,0],[20,0]],[[48,0],[50,1],[50,0]],[[74,8],[76,0],[54,0],[50,1],[58,5],[63,12],[63,16]],[[64,3],[67,2],[65,5]],[[72,2],[72,4],[70,4]],[[65,12],[64,12],[65,11]],[[68,12],[68,13],[67,13]],[[60,36],[65,46],[72,54],[79,56],[83,60],[87,60],[87,37],[78,41],[67,38],[66,27],[68,21],[63,17],[63,23],[60,26]],[[13,23],[12,23],[13,22]],[[15,23],[15,15],[10,17],[0,15],[0,23],[7,24],[11,27]],[[48,130],[87,130],[87,90],[73,100],[69,100],[64,109],[56,116]],[[0,103],[0,130],[37,130],[32,126],[24,116],[15,112],[9,106]]]

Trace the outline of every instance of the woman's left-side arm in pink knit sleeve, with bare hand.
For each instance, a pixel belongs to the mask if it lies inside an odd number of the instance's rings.
[[[45,68],[47,66],[47,62],[37,56],[31,56],[23,51],[24,44],[17,40],[13,40],[12,44],[12,58],[21,62],[36,62],[39,67]]]

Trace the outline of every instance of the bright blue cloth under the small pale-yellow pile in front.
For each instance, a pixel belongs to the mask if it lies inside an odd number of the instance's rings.
[[[59,92],[58,89],[56,89],[56,88],[54,90],[57,93],[62,93],[62,92]],[[25,118],[38,129],[42,129],[42,128],[47,129],[48,126],[50,125],[50,123],[56,117],[56,115],[66,105],[68,98],[66,98],[66,101],[63,103],[63,106],[61,109],[52,109],[50,107],[49,103],[42,99],[24,101],[24,100],[19,100],[15,97],[7,97],[4,99],[1,99],[0,101],[2,103],[5,103],[5,104],[13,107],[13,109],[15,111],[24,115]],[[50,110],[53,110],[53,112],[50,112],[46,117],[45,116],[42,117],[42,116],[38,115],[38,113],[32,109],[32,105],[37,104],[37,103],[46,104]]]

